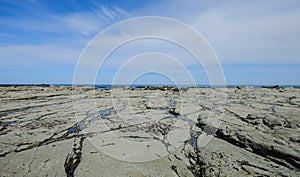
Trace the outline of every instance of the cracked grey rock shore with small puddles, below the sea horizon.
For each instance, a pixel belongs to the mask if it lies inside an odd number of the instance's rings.
[[[10,86],[0,96],[1,176],[300,176],[299,89]]]

